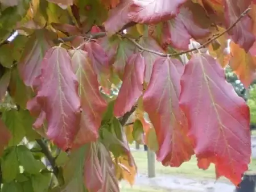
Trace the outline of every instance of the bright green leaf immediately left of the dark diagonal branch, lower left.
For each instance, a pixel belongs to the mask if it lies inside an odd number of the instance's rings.
[[[16,149],[20,165],[30,174],[39,174],[39,171],[44,168],[44,164],[36,160],[31,151],[24,145],[19,145]]]

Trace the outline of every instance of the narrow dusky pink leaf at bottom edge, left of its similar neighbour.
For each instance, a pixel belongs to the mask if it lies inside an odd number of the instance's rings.
[[[104,181],[107,182],[107,181]],[[84,162],[84,183],[86,189],[97,192],[102,188],[102,170],[98,160],[98,144],[89,143]]]

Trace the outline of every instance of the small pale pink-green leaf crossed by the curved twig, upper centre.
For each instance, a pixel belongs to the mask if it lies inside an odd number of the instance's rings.
[[[139,44],[141,44],[144,48],[148,48],[161,53],[164,52],[163,48],[158,44],[158,42],[152,39],[151,37],[141,38],[141,40],[139,41]],[[142,53],[142,56],[145,58],[145,64],[146,64],[144,81],[148,84],[150,82],[150,77],[151,77],[154,62],[156,59],[160,58],[160,56],[147,51],[144,51]]]

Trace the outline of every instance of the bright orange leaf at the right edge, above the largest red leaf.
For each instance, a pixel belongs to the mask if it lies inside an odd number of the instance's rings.
[[[256,78],[256,57],[251,56],[250,52],[245,52],[233,41],[230,43],[232,57],[229,65],[237,74],[245,87],[249,87]]]

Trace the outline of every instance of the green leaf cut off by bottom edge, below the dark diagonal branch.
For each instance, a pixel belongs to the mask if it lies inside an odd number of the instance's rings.
[[[51,173],[42,173],[32,177],[32,186],[35,192],[48,191]]]

